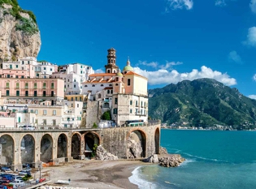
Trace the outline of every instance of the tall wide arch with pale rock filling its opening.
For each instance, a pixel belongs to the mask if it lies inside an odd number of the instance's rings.
[[[141,129],[132,129],[127,135],[127,157],[146,156],[146,134]]]

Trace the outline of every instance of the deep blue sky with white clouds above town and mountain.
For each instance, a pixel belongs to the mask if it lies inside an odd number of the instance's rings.
[[[212,78],[256,99],[256,0],[18,2],[37,16],[37,60],[102,72],[113,47],[149,88]]]

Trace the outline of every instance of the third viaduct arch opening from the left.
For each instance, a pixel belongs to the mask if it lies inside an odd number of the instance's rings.
[[[48,163],[53,159],[53,138],[50,134],[45,134],[41,137],[41,152],[40,160]]]

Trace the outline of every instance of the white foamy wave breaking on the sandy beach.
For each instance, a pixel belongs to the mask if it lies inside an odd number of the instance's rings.
[[[140,189],[143,189],[143,188],[156,189],[157,186],[154,183],[150,183],[149,181],[142,179],[140,177],[141,167],[142,166],[139,166],[132,171],[132,176],[128,178],[129,181],[133,184],[136,184]]]

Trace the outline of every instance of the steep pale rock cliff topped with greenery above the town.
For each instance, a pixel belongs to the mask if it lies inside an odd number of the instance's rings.
[[[37,57],[40,48],[41,37],[33,13],[20,9],[16,1],[0,0],[0,63]]]

